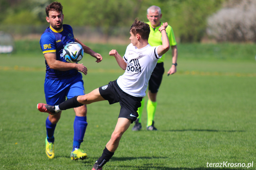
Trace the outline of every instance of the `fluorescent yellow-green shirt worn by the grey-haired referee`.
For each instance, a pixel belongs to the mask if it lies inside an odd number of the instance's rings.
[[[152,28],[150,25],[150,22],[147,22],[147,24],[150,26],[150,34],[148,38],[148,43],[150,44],[150,46],[162,45],[162,34],[160,33],[160,31],[158,31],[161,24],[156,28]],[[166,27],[166,33],[170,42],[170,46],[176,46],[177,43],[174,37],[173,29],[170,25]],[[163,62],[164,59],[165,59],[165,54],[163,54],[163,56],[158,60],[157,63]]]

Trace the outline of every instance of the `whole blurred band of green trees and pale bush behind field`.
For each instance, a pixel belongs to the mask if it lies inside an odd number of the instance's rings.
[[[53,1],[0,0],[0,30],[14,35],[42,34],[48,26],[45,20],[45,7],[51,2]],[[148,21],[147,8],[156,5],[162,10],[161,21],[168,22],[173,27],[178,42],[202,42],[209,38],[215,41],[256,41],[255,31],[250,33],[247,31],[255,28],[253,23],[256,17],[253,12],[256,11],[253,10],[253,7],[256,7],[255,0],[61,0],[59,2],[63,5],[64,24],[71,25],[79,35],[86,35],[85,32],[90,32],[92,35],[92,32],[96,31],[98,37],[106,40],[112,36],[129,36],[128,30],[134,19],[138,17],[144,22]],[[252,8],[248,12],[249,7]],[[249,17],[253,22],[250,20],[244,22],[243,17],[237,20],[238,13]],[[246,24],[247,26],[241,26]],[[229,30],[227,25],[230,27]],[[248,35],[244,35],[247,32]],[[236,38],[238,35],[241,36]]]

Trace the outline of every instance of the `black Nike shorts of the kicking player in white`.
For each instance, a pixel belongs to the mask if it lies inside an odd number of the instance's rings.
[[[109,101],[109,104],[120,103],[121,109],[118,118],[131,119],[131,123],[133,123],[139,116],[137,110],[141,106],[142,97],[135,97],[125,93],[118,86],[117,80],[99,87],[99,92],[105,100]]]

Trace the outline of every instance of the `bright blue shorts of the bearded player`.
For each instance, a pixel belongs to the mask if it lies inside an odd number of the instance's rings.
[[[66,97],[69,99],[76,95],[84,95],[85,89],[82,74],[62,80],[45,78],[44,94],[46,103],[52,106],[62,103],[66,100]]]

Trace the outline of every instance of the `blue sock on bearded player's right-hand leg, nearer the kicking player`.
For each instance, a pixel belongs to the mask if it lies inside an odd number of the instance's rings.
[[[73,142],[73,150],[75,148],[80,148],[81,143],[84,141],[85,131],[87,127],[87,118],[86,116],[80,117],[76,116],[74,120],[74,142]]]

